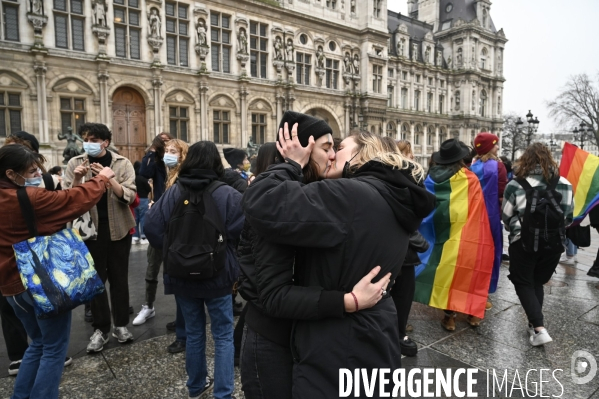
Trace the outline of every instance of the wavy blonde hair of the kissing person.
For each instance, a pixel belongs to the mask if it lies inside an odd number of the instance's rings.
[[[424,176],[424,170],[419,163],[406,158],[399,151],[389,151],[389,146],[377,134],[360,131],[350,135],[358,145],[356,163],[351,166],[355,171],[364,164],[376,160],[383,165],[391,166],[393,169],[412,169],[412,177],[418,183]]]

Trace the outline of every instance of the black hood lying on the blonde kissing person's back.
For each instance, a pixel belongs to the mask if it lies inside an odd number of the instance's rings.
[[[372,185],[387,201],[406,231],[418,229],[422,219],[435,209],[435,196],[414,183],[411,172],[393,169],[377,161],[363,165],[352,176]]]

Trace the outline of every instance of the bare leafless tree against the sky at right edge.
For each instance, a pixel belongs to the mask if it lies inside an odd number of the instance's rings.
[[[580,122],[591,126],[595,142],[599,142],[599,85],[594,85],[587,74],[570,77],[555,100],[547,102],[547,107],[549,115],[566,130]]]

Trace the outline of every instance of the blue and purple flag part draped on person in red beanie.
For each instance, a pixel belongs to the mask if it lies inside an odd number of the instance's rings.
[[[485,205],[489,215],[491,225],[491,234],[495,244],[495,254],[493,258],[493,274],[491,275],[491,285],[489,293],[497,291],[497,282],[499,281],[499,269],[501,268],[501,254],[503,252],[503,233],[501,232],[501,209],[499,204],[499,171],[497,161],[490,159],[487,162],[478,160],[470,166],[470,170],[478,177],[480,185],[485,196]]]

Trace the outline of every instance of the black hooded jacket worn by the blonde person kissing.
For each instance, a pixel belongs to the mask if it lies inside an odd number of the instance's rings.
[[[351,179],[303,185],[301,168],[272,166],[244,196],[246,219],[271,242],[296,247],[294,279],[303,287],[350,292],[374,266],[399,274],[408,234],[434,208],[434,196],[399,170],[370,162]],[[277,290],[258,279],[262,303]],[[287,282],[289,284],[289,282]],[[278,306],[297,307],[289,299]],[[342,319],[298,321],[294,332],[294,398],[338,396],[339,368],[401,366],[392,301]]]

